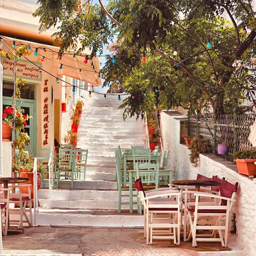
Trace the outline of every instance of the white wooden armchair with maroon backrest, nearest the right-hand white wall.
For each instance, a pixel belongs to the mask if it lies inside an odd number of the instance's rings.
[[[220,185],[220,195],[211,193],[204,193],[201,191],[194,192],[195,208],[187,208],[186,212],[189,217],[189,224],[191,229],[191,236],[193,238],[192,246],[197,246],[197,241],[212,241],[220,242],[222,247],[227,247],[228,244],[228,223],[229,212],[235,202],[235,195],[238,188],[238,182],[235,185],[223,180]],[[200,198],[199,198],[200,197]],[[200,203],[201,197],[213,198],[214,201],[207,203]],[[214,202],[214,204],[212,204]],[[200,218],[211,218],[211,223],[202,221]],[[222,224],[223,223],[223,224]],[[211,234],[197,235],[197,230],[213,230]],[[224,230],[224,237],[222,234]],[[217,237],[217,234],[219,237]],[[199,237],[200,236],[200,237]],[[210,237],[209,237],[210,236]]]

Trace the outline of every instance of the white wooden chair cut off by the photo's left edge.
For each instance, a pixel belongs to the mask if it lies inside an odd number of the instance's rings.
[[[0,206],[2,218],[2,234],[7,236],[8,223],[9,223],[9,197],[11,188],[0,188]],[[5,196],[6,193],[6,196]]]

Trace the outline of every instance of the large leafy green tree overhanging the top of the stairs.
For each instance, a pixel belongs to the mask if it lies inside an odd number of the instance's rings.
[[[125,116],[154,106],[192,110],[209,104],[222,114],[253,98],[256,22],[251,2],[112,0],[106,10],[99,0],[100,5],[78,11],[74,0],[38,0],[35,15],[42,30],[60,23],[55,34],[62,40],[60,51],[90,47],[94,55],[118,34],[117,62],[109,56],[101,75],[105,85],[119,83],[131,93],[122,105]],[[231,22],[221,18],[224,12]]]

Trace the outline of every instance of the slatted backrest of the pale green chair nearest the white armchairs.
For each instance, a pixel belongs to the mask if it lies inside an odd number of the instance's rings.
[[[136,163],[135,170],[137,172],[137,178],[141,178],[142,183],[145,183],[146,185],[155,185],[156,188],[158,188],[159,163]]]

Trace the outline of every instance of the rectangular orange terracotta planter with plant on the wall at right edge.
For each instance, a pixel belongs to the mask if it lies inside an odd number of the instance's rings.
[[[238,151],[234,153],[238,173],[254,176],[256,175],[256,152],[253,150]]]

